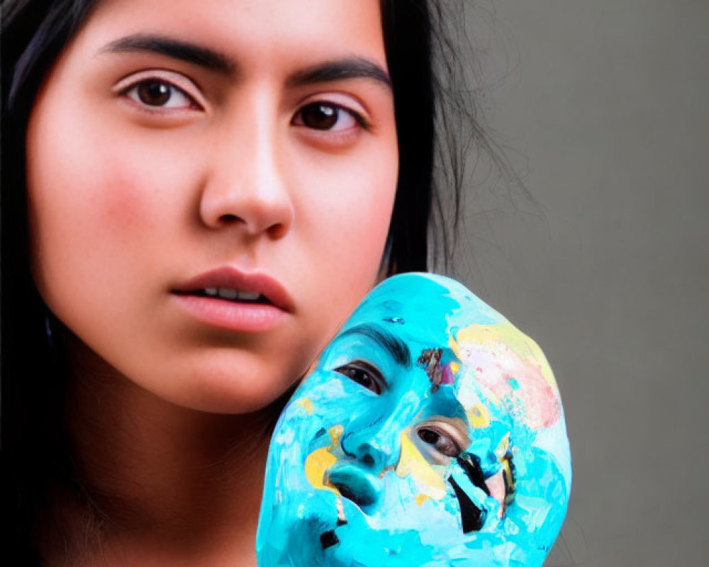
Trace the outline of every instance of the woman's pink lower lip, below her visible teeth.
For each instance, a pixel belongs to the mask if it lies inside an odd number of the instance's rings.
[[[173,294],[197,320],[211,327],[235,332],[262,332],[271,330],[281,322],[286,312],[275,305],[264,303],[239,303],[202,296]]]

